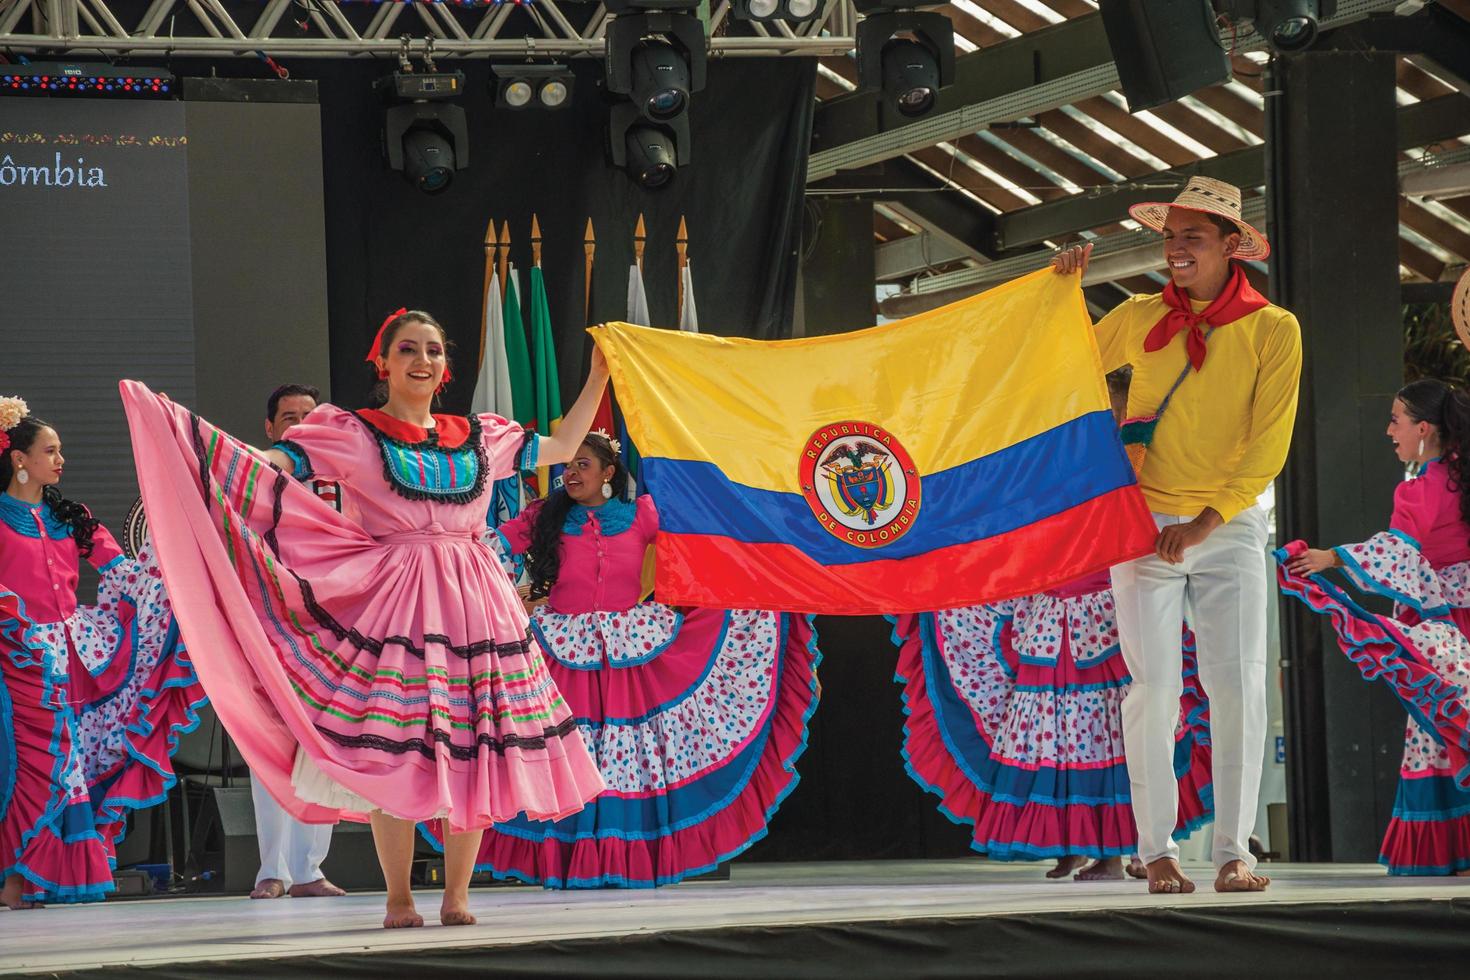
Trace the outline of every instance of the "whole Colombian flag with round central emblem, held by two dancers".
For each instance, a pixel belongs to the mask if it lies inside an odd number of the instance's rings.
[[[659,505],[663,602],[919,613],[1152,550],[1078,276],[836,336],[591,332]]]

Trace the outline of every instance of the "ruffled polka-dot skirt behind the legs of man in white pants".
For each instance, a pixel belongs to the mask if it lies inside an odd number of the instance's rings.
[[[1176,837],[1208,823],[1208,701],[1185,633],[1175,733]],[[1133,854],[1123,698],[1108,574],[989,605],[900,616],[904,763],[995,861]]]

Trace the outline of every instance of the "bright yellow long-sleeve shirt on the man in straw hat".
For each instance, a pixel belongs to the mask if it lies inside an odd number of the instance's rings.
[[[1186,331],[1163,350],[1144,353],[1144,338],[1166,311],[1161,297],[1135,295],[1097,325],[1102,369],[1133,366],[1129,417],[1154,414],[1183,370]],[[1191,372],[1169,403],[1139,483],[1160,514],[1194,517],[1213,507],[1230,520],[1286,464],[1301,381],[1301,326],[1286,310],[1267,306],[1208,331],[1207,351],[1204,367]]]

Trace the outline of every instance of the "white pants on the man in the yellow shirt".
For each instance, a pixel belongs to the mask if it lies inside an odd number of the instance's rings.
[[[1154,514],[1158,527],[1189,517]],[[1216,867],[1245,861],[1266,751],[1266,511],[1251,507],[1185,551],[1179,564],[1148,555],[1113,569],[1117,632],[1133,685],[1123,699],[1123,748],[1148,861],[1179,857],[1173,842],[1179,783],[1180,626],[1188,605],[1200,683],[1210,699]]]

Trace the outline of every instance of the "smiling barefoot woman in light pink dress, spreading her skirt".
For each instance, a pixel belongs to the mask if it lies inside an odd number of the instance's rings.
[[[266,454],[135,382],[123,404],[184,636],[254,777],[300,820],[370,818],[390,929],[423,924],[413,824],[442,821],[440,921],[472,924],[484,829],[556,820],[603,789],[482,532],[494,480],[572,458],[607,367],[594,353],[542,438],[432,413],[448,364],[426,313],[390,317],[368,360],[382,408],[322,404]],[[306,478],[340,483],[351,517]]]

